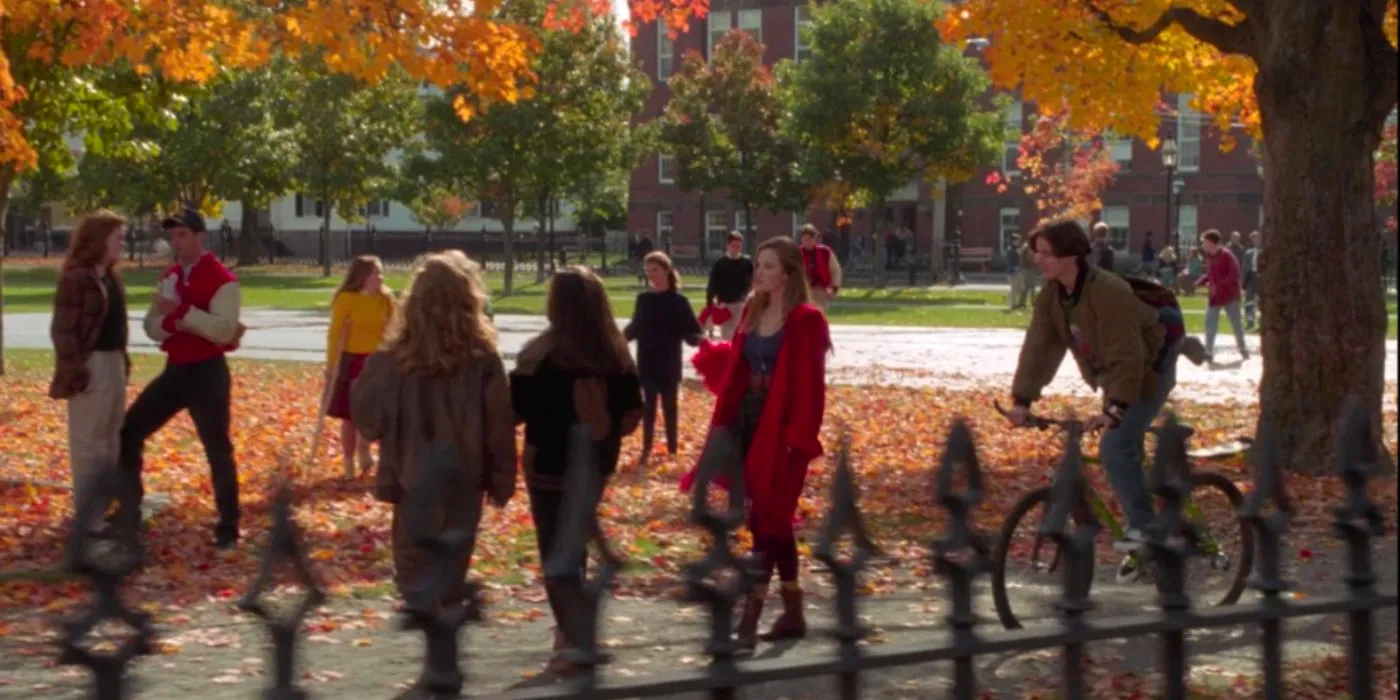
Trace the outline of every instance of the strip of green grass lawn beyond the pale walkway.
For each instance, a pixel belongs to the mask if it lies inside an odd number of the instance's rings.
[[[130,298],[146,300],[155,291],[155,267],[130,269],[123,272]],[[340,283],[339,276],[321,277],[311,269],[287,267],[244,267],[238,270],[244,286],[245,307],[279,309],[326,309],[330,294]],[[53,288],[57,270],[52,266],[7,265],[4,270],[4,311],[8,314],[43,312],[53,305]],[[535,281],[535,273],[517,273],[515,290],[504,295],[501,273],[487,273],[486,283],[491,290],[491,302],[497,314],[539,315],[545,312],[547,281]],[[402,290],[407,274],[391,270],[388,283]],[[617,318],[631,315],[640,291],[634,277],[609,277],[605,280],[608,294]],[[704,297],[704,280],[685,280],[683,291],[699,305]],[[137,304],[133,304],[136,307]],[[1187,328],[1194,333],[1205,328],[1205,295],[1183,297]],[[1396,316],[1396,297],[1387,298],[1387,309]],[[1005,293],[972,291],[948,287],[892,287],[874,290],[847,287],[830,308],[836,323],[890,325],[890,326],[948,326],[948,328],[1025,328],[1030,315],[1025,311],[1007,311]],[[1225,332],[1228,333],[1228,325]],[[1392,322],[1389,337],[1396,337]]]

